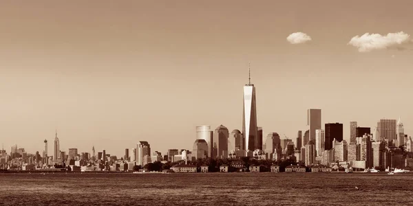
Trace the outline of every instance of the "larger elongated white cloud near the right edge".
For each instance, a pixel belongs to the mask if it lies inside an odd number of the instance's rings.
[[[370,52],[374,49],[387,49],[394,45],[408,43],[410,35],[404,32],[389,33],[385,36],[381,34],[363,34],[363,36],[354,36],[348,45],[359,48],[359,52]]]

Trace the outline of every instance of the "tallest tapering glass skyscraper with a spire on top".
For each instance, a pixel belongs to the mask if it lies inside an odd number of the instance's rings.
[[[251,76],[248,77],[248,84],[244,86],[242,135],[245,138],[245,150],[254,151],[258,148],[257,105],[255,87],[254,84],[251,84]]]

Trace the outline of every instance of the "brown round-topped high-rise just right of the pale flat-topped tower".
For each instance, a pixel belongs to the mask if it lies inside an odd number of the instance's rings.
[[[215,128],[213,132],[213,155],[212,158],[228,157],[229,130],[223,125]]]

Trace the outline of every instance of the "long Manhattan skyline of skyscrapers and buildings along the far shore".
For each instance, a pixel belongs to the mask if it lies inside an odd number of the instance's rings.
[[[92,153],[79,154],[77,148],[70,148],[66,153],[60,150],[56,131],[52,156],[47,153],[45,139],[41,154],[28,154],[24,148],[17,146],[12,146],[10,155],[6,150],[0,150],[0,165],[2,168],[20,170],[70,168],[73,171],[117,171],[134,170],[136,166],[143,167],[156,161],[182,161],[172,169],[189,172],[193,171],[193,165],[187,164],[188,161],[249,157],[271,161],[293,160],[299,164],[292,165],[288,170],[295,172],[301,172],[300,165],[311,167],[314,171],[325,171],[334,165],[359,169],[413,167],[412,137],[404,133],[400,118],[399,121],[380,119],[373,130],[350,122],[350,142],[343,139],[343,124],[326,123],[322,128],[321,109],[309,108],[306,119],[306,129],[298,131],[295,144],[286,135],[282,137],[274,131],[266,133],[263,141],[263,128],[257,124],[255,86],[250,78],[244,86],[242,130],[234,129],[229,133],[230,130],[223,125],[215,129],[209,125],[196,126],[192,150],[171,148],[162,156],[158,151],[151,152],[148,141],[138,141],[134,148],[125,149],[125,155],[120,159],[107,154],[106,150],[96,154],[94,147]],[[257,165],[250,171],[267,169],[270,170]]]

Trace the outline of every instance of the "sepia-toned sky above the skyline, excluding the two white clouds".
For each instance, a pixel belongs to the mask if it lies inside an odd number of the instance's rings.
[[[257,92],[265,136],[322,124],[413,133],[413,43],[359,52],[365,33],[413,35],[413,1],[16,1],[0,3],[0,144],[124,155],[139,140],[192,150],[195,126],[242,129]],[[311,41],[286,38],[304,32]]]

